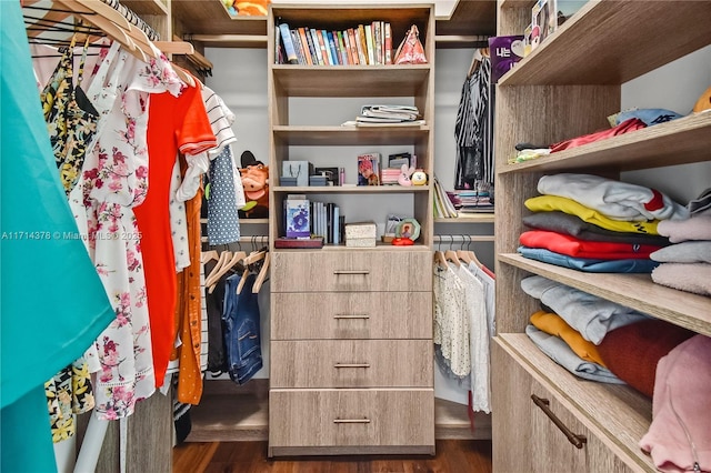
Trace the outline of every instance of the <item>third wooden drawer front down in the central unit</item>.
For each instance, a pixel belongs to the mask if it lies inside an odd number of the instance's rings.
[[[271,341],[271,388],[432,388],[428,340]],[[407,360],[407,362],[405,362]]]

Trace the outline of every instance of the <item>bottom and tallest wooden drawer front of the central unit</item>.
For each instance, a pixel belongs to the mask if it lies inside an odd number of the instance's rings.
[[[269,446],[434,445],[434,392],[271,390]]]

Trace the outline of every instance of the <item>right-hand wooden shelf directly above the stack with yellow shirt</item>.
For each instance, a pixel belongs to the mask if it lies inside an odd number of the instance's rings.
[[[630,171],[711,160],[711,112],[697,113],[667,123],[583,144],[515,164],[499,173],[564,171],[604,167]]]

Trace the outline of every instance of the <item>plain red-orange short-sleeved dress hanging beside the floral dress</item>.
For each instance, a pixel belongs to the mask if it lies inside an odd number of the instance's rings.
[[[151,324],[156,386],[163,384],[176,340],[176,259],[170,227],[170,184],[178,152],[197,154],[217,145],[198,87],[180,97],[153,94],[148,122],[148,194],[136,208],[141,232],[146,294]]]

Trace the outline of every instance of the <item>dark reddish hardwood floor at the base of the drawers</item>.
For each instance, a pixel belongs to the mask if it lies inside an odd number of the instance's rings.
[[[186,442],[173,473],[490,473],[491,441],[438,440],[437,454],[267,457],[267,442]]]

